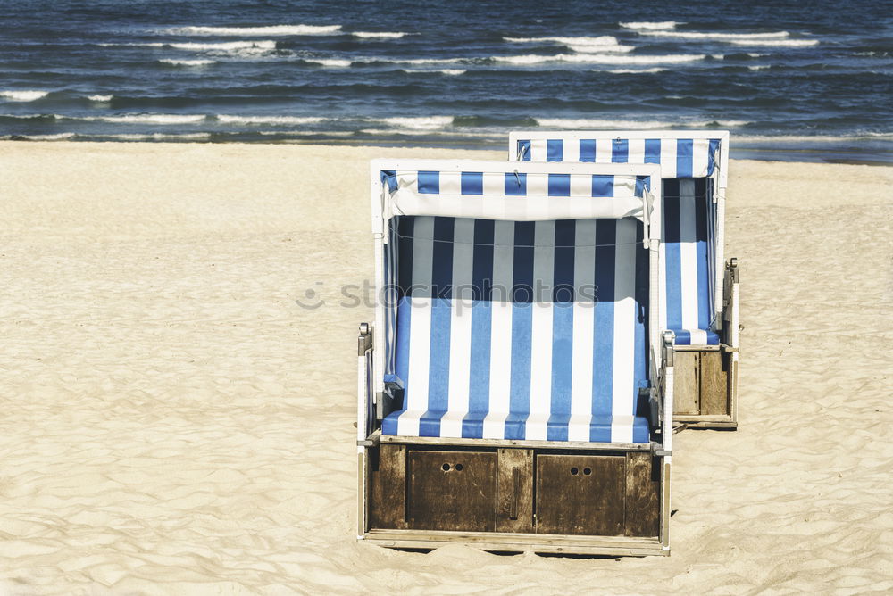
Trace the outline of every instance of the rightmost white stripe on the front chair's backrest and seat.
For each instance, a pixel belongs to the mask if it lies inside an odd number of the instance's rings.
[[[636,361],[636,221],[617,220],[614,259],[613,395],[614,417],[633,414]],[[611,427],[613,442],[629,441],[621,426]]]

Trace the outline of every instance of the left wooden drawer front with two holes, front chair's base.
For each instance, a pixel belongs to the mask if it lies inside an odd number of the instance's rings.
[[[408,526],[493,532],[497,518],[497,453],[410,451]]]

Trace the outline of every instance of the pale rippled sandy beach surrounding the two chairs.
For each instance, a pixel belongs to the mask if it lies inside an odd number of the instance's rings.
[[[670,558],[572,559],[355,542],[384,156],[505,159],[0,143],[0,594],[893,591],[893,167],[732,161],[739,430],[676,435]]]

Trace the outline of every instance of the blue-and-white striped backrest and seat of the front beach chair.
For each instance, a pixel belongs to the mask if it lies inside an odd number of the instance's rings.
[[[635,219],[397,218],[385,435],[647,443],[647,251]]]

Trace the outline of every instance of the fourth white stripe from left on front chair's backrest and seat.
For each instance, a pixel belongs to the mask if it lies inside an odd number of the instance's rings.
[[[555,221],[538,221],[534,231],[534,302],[530,330],[530,417],[526,437],[545,440],[552,406],[552,290],[555,286]],[[538,283],[544,287],[542,291]],[[542,295],[538,295],[538,294]]]

